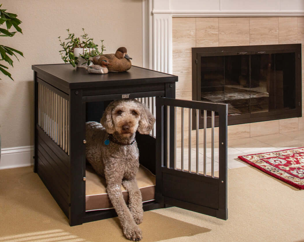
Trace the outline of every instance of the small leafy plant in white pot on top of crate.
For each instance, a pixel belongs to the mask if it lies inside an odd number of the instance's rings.
[[[75,37],[74,33],[70,33],[70,30],[67,29],[68,37],[65,39],[66,42],[62,42],[60,36],[58,37],[60,41],[60,46],[63,50],[60,50],[59,53],[61,58],[65,63],[70,63],[74,67],[85,67],[85,64],[89,65],[89,57],[94,57],[96,55],[101,55],[105,50],[103,45],[103,40],[101,40],[101,52],[98,51],[98,45],[93,42],[92,38],[88,38],[88,34],[85,33],[85,29],[82,28],[83,35],[81,39]]]

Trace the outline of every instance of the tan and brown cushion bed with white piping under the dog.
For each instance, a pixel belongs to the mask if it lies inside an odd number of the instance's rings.
[[[85,181],[85,210],[112,209],[112,203],[106,192],[105,178],[95,173],[92,166],[86,167]],[[137,185],[140,189],[143,203],[155,200],[155,176],[144,166],[140,165],[136,175]],[[128,202],[128,192],[121,186],[123,198]]]

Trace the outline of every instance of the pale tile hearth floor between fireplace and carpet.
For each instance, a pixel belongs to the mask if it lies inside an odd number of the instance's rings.
[[[286,150],[304,146],[304,130],[287,133],[256,136],[244,139],[229,139],[228,137],[228,169],[249,166],[237,157],[248,154],[264,153],[277,150]],[[199,173],[204,171],[203,144],[199,145]],[[188,170],[188,147],[184,148],[183,168]],[[181,169],[181,148],[176,150],[176,166]],[[214,171],[218,170],[218,143],[214,147]],[[196,147],[191,149],[191,170],[196,171]],[[211,143],[206,148],[206,172],[211,171]]]

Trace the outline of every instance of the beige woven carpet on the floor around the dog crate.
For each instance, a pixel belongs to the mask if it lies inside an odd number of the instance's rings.
[[[228,170],[228,220],[171,207],[144,213],[148,241],[304,241],[304,190],[252,167]],[[0,170],[0,242],[128,241],[117,218],[70,227],[32,167]]]

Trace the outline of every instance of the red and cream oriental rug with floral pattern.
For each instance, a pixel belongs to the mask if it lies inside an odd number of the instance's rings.
[[[304,189],[304,147],[238,158],[298,189]]]

